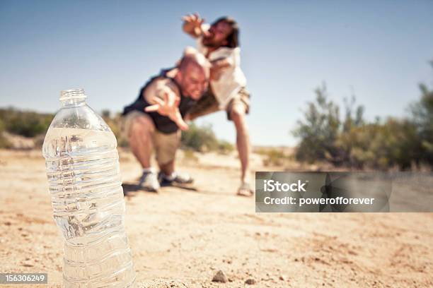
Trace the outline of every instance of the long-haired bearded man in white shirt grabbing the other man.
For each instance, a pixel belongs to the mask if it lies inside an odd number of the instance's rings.
[[[241,160],[241,185],[238,195],[253,196],[250,185],[250,137],[246,114],[250,109],[250,93],[240,66],[239,28],[233,18],[221,17],[212,25],[204,24],[198,14],[183,18],[183,31],[197,39],[197,49],[212,64],[207,93],[190,109],[186,119],[225,110],[236,128],[236,147]]]

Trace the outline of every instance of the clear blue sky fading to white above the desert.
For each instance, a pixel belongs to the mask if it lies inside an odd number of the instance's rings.
[[[232,16],[251,92],[254,145],[291,135],[314,90],[356,95],[366,119],[403,117],[433,87],[433,1],[0,1],[0,107],[59,109],[60,90],[83,88],[96,111],[121,112],[195,41],[181,17]],[[235,142],[225,112],[204,116]]]

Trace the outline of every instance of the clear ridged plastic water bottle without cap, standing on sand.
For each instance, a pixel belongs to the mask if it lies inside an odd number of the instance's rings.
[[[64,287],[134,287],[116,138],[82,89],[60,101],[42,153],[64,237]]]

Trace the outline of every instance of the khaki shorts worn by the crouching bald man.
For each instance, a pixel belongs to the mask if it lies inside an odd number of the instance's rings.
[[[137,121],[137,117],[149,117],[144,112],[132,111],[123,117],[122,122],[122,134],[131,141],[130,130],[134,121]],[[158,130],[154,130],[152,133],[152,144],[156,152],[156,162],[163,165],[175,160],[176,150],[180,145],[180,130],[174,133],[162,133]]]

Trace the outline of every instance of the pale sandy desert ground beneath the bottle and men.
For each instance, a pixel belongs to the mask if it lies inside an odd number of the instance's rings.
[[[236,154],[178,163],[194,190],[137,191],[139,164],[120,151],[137,287],[433,287],[433,213],[259,214],[235,196]],[[254,171],[273,169],[253,155]],[[0,150],[0,179],[0,272],[47,272],[61,287],[40,150]],[[212,282],[219,270],[226,283]]]

